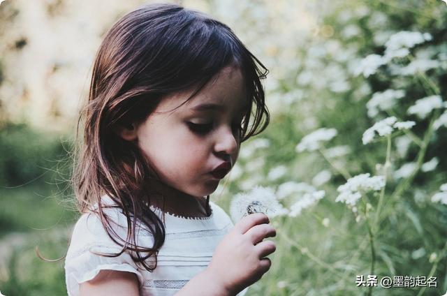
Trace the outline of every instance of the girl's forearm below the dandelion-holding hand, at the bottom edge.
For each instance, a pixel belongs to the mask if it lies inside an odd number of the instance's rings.
[[[205,269],[194,276],[175,296],[235,296],[223,286]]]

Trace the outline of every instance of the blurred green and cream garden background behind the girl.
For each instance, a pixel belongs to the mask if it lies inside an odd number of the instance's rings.
[[[150,1],[0,2],[0,291],[7,296],[66,295],[64,260],[55,259],[65,255],[79,216],[68,180],[78,110],[87,97],[94,54],[119,17]],[[306,190],[325,190],[324,198],[298,214],[272,219],[278,230],[272,268],[248,295],[443,295],[447,205],[433,202],[432,195],[447,182],[447,127],[441,124],[434,130],[432,121],[446,109],[446,3],[175,3],[228,24],[270,71],[265,80],[270,126],[242,145],[240,161],[212,200],[229,210],[235,194],[262,185],[278,195],[281,190],[281,202],[290,208],[304,184],[310,186]],[[383,55],[387,40],[400,31],[432,38],[380,68],[365,64],[367,55]],[[402,89],[405,95],[368,116],[367,102],[387,89]],[[406,112],[430,95],[440,96],[444,106],[425,118]],[[436,276],[436,288],[377,286],[369,291],[356,286],[357,275],[371,274],[371,244],[365,221],[335,201],[337,188],[346,182],[343,172],[380,172],[386,140],[363,145],[362,133],[390,114],[414,120],[416,126],[411,134],[393,134],[385,195],[389,200],[374,237],[374,274],[379,279]],[[298,153],[296,145],[318,128],[338,133],[319,152]],[[416,145],[418,139],[426,145]],[[408,163],[413,166],[405,169]],[[369,195],[372,209],[376,197]],[[55,261],[38,258],[36,247]]]

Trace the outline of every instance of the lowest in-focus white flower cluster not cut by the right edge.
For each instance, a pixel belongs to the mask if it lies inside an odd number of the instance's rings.
[[[335,201],[345,202],[346,205],[354,206],[362,197],[362,192],[379,191],[383,186],[385,186],[385,177],[383,176],[369,177],[369,173],[357,175],[348,179],[346,184],[337,188],[340,194]]]

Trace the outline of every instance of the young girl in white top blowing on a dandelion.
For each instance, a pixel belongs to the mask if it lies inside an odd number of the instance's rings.
[[[225,24],[182,6],[110,29],[81,114],[68,295],[242,295],[261,279],[268,217],[233,225],[210,193],[268,125],[267,73]]]

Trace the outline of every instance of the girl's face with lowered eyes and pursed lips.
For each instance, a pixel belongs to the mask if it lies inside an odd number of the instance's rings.
[[[224,161],[235,164],[248,101],[240,69],[230,66],[174,110],[189,94],[183,91],[163,98],[135,128],[135,136],[162,182],[200,197],[219,184],[220,179],[210,174],[214,168]]]

